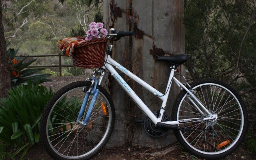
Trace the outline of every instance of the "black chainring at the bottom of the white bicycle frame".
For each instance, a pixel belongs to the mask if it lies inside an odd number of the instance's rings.
[[[154,111],[153,114],[156,117],[158,117],[159,111]],[[169,121],[169,120],[170,120],[169,116],[166,113],[164,113],[163,122]],[[161,136],[164,136],[164,134],[167,132],[166,129],[162,129],[155,126],[148,117],[144,119],[144,129],[146,133],[152,137],[161,137]]]

